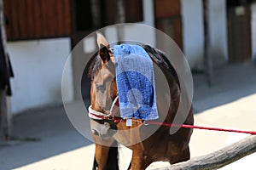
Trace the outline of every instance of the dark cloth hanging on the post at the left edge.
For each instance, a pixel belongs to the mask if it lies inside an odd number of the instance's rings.
[[[10,77],[14,77],[14,72],[9,60],[9,54],[5,54],[0,29],[0,89],[5,90],[7,95],[12,95]]]

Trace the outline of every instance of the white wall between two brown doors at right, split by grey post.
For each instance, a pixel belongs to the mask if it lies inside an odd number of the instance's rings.
[[[183,52],[193,69],[203,69],[204,27],[201,0],[182,0]],[[213,65],[228,59],[226,1],[208,0],[211,54]]]

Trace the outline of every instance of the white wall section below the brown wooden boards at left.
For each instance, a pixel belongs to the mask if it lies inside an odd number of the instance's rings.
[[[18,113],[33,107],[61,103],[62,71],[70,53],[70,39],[56,38],[8,42],[15,72],[11,85],[11,109]],[[70,68],[71,64],[67,67]],[[73,84],[65,83],[66,95],[73,98]]]

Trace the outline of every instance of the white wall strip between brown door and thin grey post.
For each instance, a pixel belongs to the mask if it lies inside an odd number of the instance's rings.
[[[203,11],[201,0],[182,0],[183,53],[193,69],[203,69]]]

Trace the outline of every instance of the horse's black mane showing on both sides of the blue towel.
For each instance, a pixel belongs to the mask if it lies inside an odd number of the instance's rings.
[[[166,54],[164,54],[164,52],[160,51],[159,49],[153,48],[149,45],[146,45],[146,44],[139,44],[139,45],[141,45],[145,49],[145,51],[149,54],[151,59],[154,60],[154,63],[156,65],[159,65],[165,68],[167,71],[169,71],[172,77],[177,82],[178,86],[180,86],[178,77],[177,77],[177,72],[175,71],[170,61],[166,58]],[[98,53],[93,55],[88,65],[89,65],[88,76],[91,78],[91,80],[93,80],[93,77],[101,69],[101,65],[102,65],[102,59],[100,58]]]

